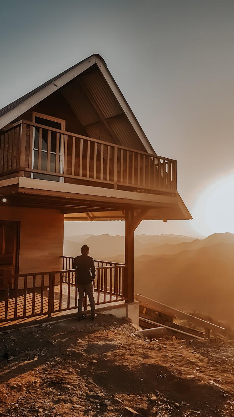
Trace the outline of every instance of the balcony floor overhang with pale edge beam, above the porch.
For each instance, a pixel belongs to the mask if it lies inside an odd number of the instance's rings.
[[[17,177],[0,181],[0,206],[57,209],[65,221],[124,220],[125,210],[146,209],[143,220],[192,219],[180,196],[153,195],[109,188]]]

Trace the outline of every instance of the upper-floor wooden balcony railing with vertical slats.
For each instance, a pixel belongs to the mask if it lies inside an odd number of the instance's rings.
[[[177,161],[20,121],[1,134],[0,176],[174,193]]]

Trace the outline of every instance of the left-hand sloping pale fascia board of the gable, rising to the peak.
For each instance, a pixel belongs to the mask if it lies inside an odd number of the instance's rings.
[[[17,107],[13,108],[2,117],[0,117],[0,129],[6,126],[8,123],[15,120],[18,116],[25,113],[28,109],[35,106],[40,101],[44,100],[44,98],[48,97],[48,95],[57,91],[63,85],[69,83],[69,81],[73,80],[77,75],[83,73],[86,69],[91,67],[96,63],[96,56],[92,55],[90,58],[87,58],[80,64],[78,64],[75,68],[68,71],[66,74],[62,75],[57,80],[52,81],[51,84],[47,85],[46,87],[42,88],[42,90],[38,91],[32,97],[27,98],[23,103],[19,104]]]

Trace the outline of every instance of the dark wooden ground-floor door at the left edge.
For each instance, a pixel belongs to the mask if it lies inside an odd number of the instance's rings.
[[[5,289],[5,277],[18,272],[19,222],[0,221],[0,290]],[[14,286],[10,279],[9,288]]]

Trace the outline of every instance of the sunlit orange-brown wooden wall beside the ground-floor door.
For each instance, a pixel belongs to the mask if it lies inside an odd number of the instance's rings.
[[[19,274],[62,269],[63,214],[41,208],[1,207],[0,220],[20,221]]]

